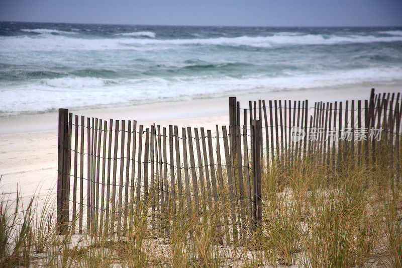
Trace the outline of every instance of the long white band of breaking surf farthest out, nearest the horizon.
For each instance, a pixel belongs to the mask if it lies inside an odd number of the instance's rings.
[[[43,30],[43,29],[42,29]],[[1,51],[63,51],[63,50],[158,50],[172,46],[248,46],[275,48],[296,45],[334,45],[348,43],[400,42],[402,36],[337,36],[337,35],[274,35],[240,36],[194,39],[127,39],[127,38],[73,38],[68,36],[13,36],[1,37]]]

